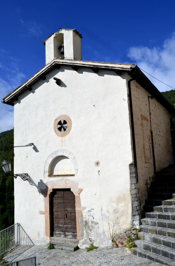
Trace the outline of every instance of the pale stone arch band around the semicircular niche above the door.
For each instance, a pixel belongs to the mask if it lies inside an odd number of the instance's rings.
[[[49,169],[51,168],[51,164],[52,162],[56,159],[56,157],[59,157],[59,156],[65,156],[67,158],[69,158],[74,166],[74,175],[76,175],[78,173],[78,163],[77,163],[77,160],[74,156],[73,153],[71,153],[69,150],[65,150],[65,149],[62,149],[62,150],[55,150],[53,153],[51,153],[47,159],[46,159],[46,162],[45,162],[45,165],[44,165],[44,177],[48,177],[49,176]]]

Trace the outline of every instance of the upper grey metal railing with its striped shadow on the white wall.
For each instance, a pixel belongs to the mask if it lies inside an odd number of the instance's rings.
[[[0,231],[0,255],[17,245],[34,245],[20,223]]]

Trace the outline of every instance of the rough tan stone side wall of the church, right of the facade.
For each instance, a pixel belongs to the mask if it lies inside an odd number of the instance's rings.
[[[129,79],[130,77],[128,76],[128,80]],[[170,113],[156,99],[149,98],[151,95],[135,80],[131,82],[131,94],[138,171],[138,188],[136,187],[137,185],[135,187],[134,185],[131,186],[131,195],[133,198],[136,198],[135,189],[139,190],[140,209],[142,210],[148,196],[147,186],[149,188],[154,176],[151,130],[154,139],[156,171],[160,171],[169,164],[174,163]],[[132,180],[132,182],[134,182],[134,180]],[[135,182],[131,184],[135,184]]]

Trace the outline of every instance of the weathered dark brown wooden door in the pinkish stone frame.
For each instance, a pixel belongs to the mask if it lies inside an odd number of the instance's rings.
[[[70,189],[54,189],[51,203],[53,236],[77,238],[74,193]]]

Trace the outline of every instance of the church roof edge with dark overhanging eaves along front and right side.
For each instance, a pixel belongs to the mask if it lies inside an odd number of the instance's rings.
[[[3,103],[14,105],[14,100],[26,90],[31,90],[31,87],[41,79],[44,79],[46,74],[51,72],[54,68],[59,69],[60,66],[74,66],[83,68],[97,68],[98,70],[110,70],[116,73],[128,72],[128,74],[136,80],[150,95],[155,96],[159,103],[163,105],[171,114],[175,114],[175,108],[169,103],[168,100],[159,92],[153,83],[146,77],[146,75],[139,69],[138,66],[133,67],[133,64],[122,63],[106,63],[94,61],[79,61],[70,59],[54,59],[49,64],[40,69],[29,80],[17,87],[14,91],[3,98]]]

